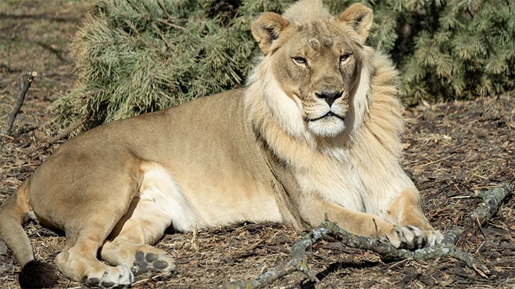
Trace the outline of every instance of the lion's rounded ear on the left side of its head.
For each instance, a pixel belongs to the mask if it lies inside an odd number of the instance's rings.
[[[260,45],[261,51],[266,55],[270,52],[272,42],[279,37],[279,33],[288,25],[288,21],[281,15],[272,12],[261,14],[251,27],[255,41]]]

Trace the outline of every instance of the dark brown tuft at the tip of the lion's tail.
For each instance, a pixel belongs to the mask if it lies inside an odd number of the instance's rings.
[[[32,260],[25,264],[19,276],[21,288],[45,288],[56,284],[56,267],[43,261]]]

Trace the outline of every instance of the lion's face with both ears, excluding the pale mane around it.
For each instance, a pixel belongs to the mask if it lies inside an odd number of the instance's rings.
[[[366,39],[359,29],[369,27],[372,16],[363,5],[349,10],[336,19],[298,22],[268,13],[253,24],[275,80],[295,102],[308,130],[319,137],[341,134],[354,109]],[[362,22],[356,23],[349,14]]]

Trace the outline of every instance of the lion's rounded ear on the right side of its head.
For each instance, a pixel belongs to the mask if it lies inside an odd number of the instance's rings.
[[[372,20],[374,20],[374,13],[367,6],[355,3],[340,14],[339,19],[349,23],[361,37],[361,40],[365,42],[372,26]]]

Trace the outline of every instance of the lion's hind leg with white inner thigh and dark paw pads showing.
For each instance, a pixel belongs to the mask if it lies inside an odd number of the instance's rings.
[[[176,268],[173,257],[150,245],[159,241],[171,224],[179,231],[190,231],[203,222],[165,167],[149,161],[139,168],[139,195],[104,242],[100,257],[114,266],[130,268],[135,275],[171,272]]]

